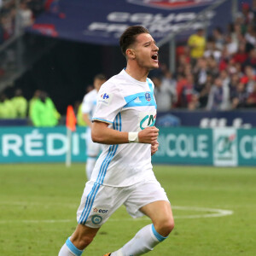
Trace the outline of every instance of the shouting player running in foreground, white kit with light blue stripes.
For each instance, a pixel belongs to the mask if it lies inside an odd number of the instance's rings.
[[[91,130],[92,140],[105,144],[104,150],[85,185],[77,212],[79,224],[59,256],[81,255],[122,204],[132,217],[147,215],[152,224],[106,256],[147,253],[174,227],[171,204],[151,164],[151,155],[158,149],[159,130],[154,126],[154,84],[147,76],[149,70],[159,67],[159,49],[143,26],[128,27],[119,44],[127,66],[102,84]]]

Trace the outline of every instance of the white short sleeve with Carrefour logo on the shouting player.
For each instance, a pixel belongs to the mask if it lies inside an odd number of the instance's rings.
[[[125,98],[115,84],[109,82],[103,84],[97,96],[96,111],[92,121],[113,124],[113,120],[125,104]]]

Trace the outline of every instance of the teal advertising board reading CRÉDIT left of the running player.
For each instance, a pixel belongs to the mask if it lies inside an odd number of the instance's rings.
[[[64,162],[67,153],[67,128],[0,128],[0,163]],[[85,128],[72,134],[72,160],[86,161]]]

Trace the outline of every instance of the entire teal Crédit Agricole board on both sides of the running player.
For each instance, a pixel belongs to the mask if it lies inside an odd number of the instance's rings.
[[[85,129],[72,133],[73,162],[86,161]],[[160,148],[153,163],[206,166],[256,166],[256,129],[160,128]],[[65,162],[67,129],[0,128],[0,164]]]

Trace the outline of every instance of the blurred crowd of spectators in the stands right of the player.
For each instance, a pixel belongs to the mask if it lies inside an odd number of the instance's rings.
[[[177,47],[176,73],[151,73],[159,111],[256,107],[256,15],[247,3],[227,32],[204,28]]]

